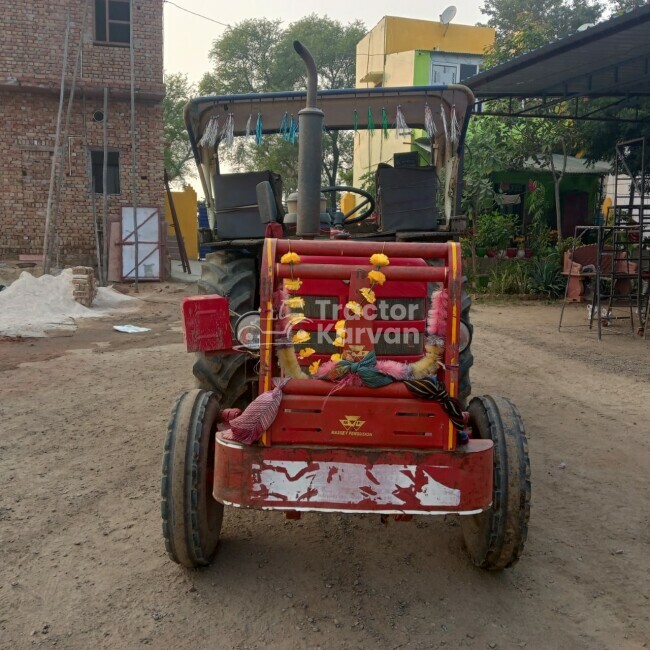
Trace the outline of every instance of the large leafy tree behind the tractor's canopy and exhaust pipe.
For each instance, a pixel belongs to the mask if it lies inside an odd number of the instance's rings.
[[[280,21],[245,20],[214,42],[209,54],[213,69],[204,75],[199,92],[209,95],[306,88],[305,67],[293,49],[295,40],[305,43],[313,54],[320,88],[353,87],[356,45],[365,31],[360,21],[343,24],[316,14],[301,18],[286,29]],[[226,155],[236,169],[273,169],[282,174],[287,192],[296,188],[297,146],[278,136],[265,137],[262,145],[236,142]],[[336,185],[349,172],[352,155],[352,137],[326,131],[323,184]]]

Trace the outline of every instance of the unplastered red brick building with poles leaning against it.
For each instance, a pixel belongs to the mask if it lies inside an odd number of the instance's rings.
[[[69,138],[64,143],[64,181],[55,239],[58,259],[61,264],[96,264],[90,178],[101,223],[104,88],[109,91],[109,221],[119,221],[122,207],[132,205],[131,18],[137,204],[158,208],[164,214],[163,0],[5,3],[0,12],[0,259],[43,251],[67,14],[71,28],[62,134],[85,10],[81,65]]]

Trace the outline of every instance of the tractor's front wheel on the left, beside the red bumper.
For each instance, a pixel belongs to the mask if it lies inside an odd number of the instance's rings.
[[[163,537],[167,553],[186,567],[210,564],[217,550],[223,504],[212,496],[219,403],[190,390],[176,400],[162,464]]]

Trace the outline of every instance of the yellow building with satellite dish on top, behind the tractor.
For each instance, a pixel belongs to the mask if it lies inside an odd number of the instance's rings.
[[[431,20],[385,16],[357,45],[357,88],[429,86],[462,83],[480,68],[485,50],[494,43],[490,27],[444,25]],[[393,155],[418,149],[414,141],[421,133],[388,138],[376,131],[357,133],[354,142],[354,185],[374,173],[380,162],[393,164]],[[392,126],[395,116],[387,116]]]

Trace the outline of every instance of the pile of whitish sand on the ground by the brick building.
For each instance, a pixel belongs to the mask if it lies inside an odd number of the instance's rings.
[[[22,273],[18,280],[0,291],[0,335],[46,336],[48,330],[74,330],[75,321],[80,318],[129,311],[139,302],[137,298],[100,287],[89,309],[73,299],[72,291],[72,269],[40,278]]]

